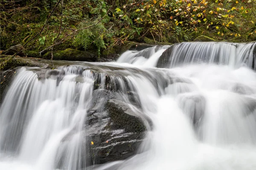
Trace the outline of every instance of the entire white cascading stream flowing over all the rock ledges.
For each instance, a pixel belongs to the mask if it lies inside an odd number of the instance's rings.
[[[21,68],[1,105],[0,168],[255,170],[255,49],[186,42],[127,51],[117,63]],[[114,142],[143,134],[128,125],[104,141],[112,125],[105,107],[116,99],[144,122],[143,139]],[[132,142],[141,142],[135,156],[96,165],[97,149]]]

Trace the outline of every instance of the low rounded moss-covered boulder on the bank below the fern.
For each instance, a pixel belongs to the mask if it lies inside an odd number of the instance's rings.
[[[46,54],[44,54],[41,57],[45,58],[45,59],[51,59],[51,57],[52,57],[51,51],[47,52]],[[89,53],[87,51],[80,51],[80,50],[76,50],[76,49],[67,48],[65,50],[54,51],[53,59],[95,62],[97,57],[95,54]]]

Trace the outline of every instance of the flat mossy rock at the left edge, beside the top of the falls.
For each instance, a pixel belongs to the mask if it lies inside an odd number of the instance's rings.
[[[45,63],[42,63],[40,61],[36,61],[33,59],[25,58],[25,57],[5,56],[3,58],[0,58],[0,62],[1,62],[0,71],[14,69],[20,66],[29,66],[29,67],[46,66]]]

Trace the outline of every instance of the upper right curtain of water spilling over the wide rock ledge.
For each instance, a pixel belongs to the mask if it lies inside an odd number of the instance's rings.
[[[173,68],[191,63],[217,63],[240,67],[247,65],[256,69],[256,42],[182,42],[172,45],[161,56],[158,67]]]

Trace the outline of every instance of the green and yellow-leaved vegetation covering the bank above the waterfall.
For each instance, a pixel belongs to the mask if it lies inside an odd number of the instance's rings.
[[[256,0],[2,0],[0,8],[1,49],[26,44],[33,56],[51,45],[102,56],[127,40],[256,40]]]

